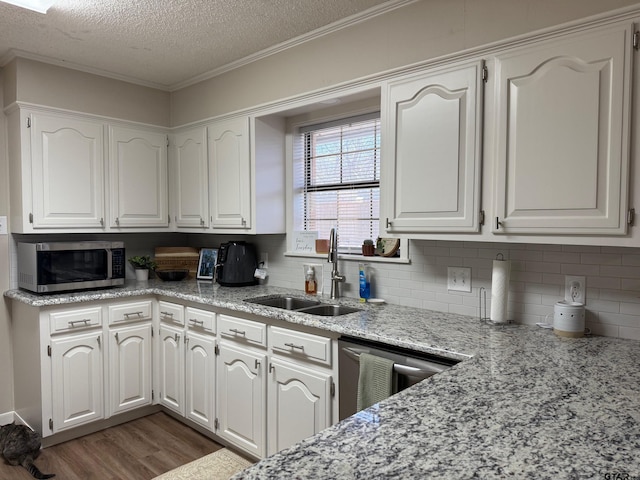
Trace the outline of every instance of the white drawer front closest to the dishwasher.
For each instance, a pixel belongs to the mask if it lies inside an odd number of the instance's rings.
[[[295,356],[331,366],[330,338],[271,327],[269,344],[273,353]]]

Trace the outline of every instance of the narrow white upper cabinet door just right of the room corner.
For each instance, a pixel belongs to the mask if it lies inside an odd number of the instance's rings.
[[[172,204],[178,227],[209,227],[207,130],[195,128],[174,136]]]

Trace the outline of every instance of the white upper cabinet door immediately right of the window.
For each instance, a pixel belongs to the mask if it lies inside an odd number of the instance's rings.
[[[381,182],[388,232],[478,231],[482,92],[479,61],[389,84]]]

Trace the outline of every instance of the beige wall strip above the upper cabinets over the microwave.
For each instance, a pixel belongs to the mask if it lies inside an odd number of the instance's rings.
[[[169,93],[24,58],[6,68],[5,97],[152,125],[169,125]]]

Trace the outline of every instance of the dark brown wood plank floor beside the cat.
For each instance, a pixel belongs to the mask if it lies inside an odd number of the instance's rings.
[[[159,412],[42,450],[36,465],[56,480],[149,480],[222,448]],[[33,480],[0,460],[0,480]]]

